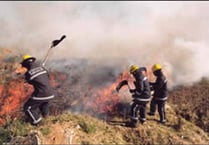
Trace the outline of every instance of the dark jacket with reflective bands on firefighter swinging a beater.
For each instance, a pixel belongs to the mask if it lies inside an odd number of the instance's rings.
[[[48,71],[38,63],[31,63],[30,68],[25,73],[26,81],[33,85],[33,100],[49,100],[54,98],[54,94],[49,82]]]

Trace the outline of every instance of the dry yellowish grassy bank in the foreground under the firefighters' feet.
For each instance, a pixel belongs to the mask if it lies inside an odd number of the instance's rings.
[[[0,143],[10,144],[208,144],[209,136],[193,123],[167,107],[168,122],[158,124],[148,116],[145,124],[132,129],[123,126],[126,118],[107,120],[87,114],[64,113],[50,116],[34,127],[20,120],[10,120],[0,128]],[[33,143],[32,143],[33,142]]]

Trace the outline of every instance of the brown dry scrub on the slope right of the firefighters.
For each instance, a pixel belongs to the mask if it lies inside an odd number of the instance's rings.
[[[178,86],[169,93],[169,103],[177,114],[209,133],[209,79],[193,86]]]

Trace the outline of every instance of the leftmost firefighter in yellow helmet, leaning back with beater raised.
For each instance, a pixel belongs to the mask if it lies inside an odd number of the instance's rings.
[[[36,62],[36,58],[30,55],[23,56],[21,65],[27,69],[25,80],[34,88],[31,97],[24,104],[24,112],[29,117],[31,124],[37,125],[41,122],[42,117],[48,115],[49,101],[54,98],[49,83],[49,74]]]

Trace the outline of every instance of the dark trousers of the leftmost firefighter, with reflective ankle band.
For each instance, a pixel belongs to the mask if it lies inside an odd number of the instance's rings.
[[[43,117],[48,115],[48,101],[29,99],[23,109],[25,114],[30,118],[30,122],[35,125],[41,122],[41,115]]]

